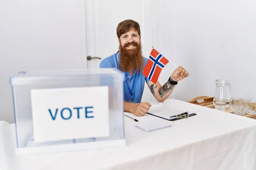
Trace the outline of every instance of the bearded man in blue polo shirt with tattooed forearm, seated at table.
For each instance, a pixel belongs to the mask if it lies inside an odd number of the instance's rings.
[[[136,116],[143,116],[151,107],[148,102],[141,102],[146,81],[151,93],[159,102],[163,102],[172,93],[178,81],[189,76],[185,68],[175,69],[168,81],[162,86],[146,78],[143,68],[148,59],[143,57],[140,42],[140,25],[134,20],[124,20],[118,24],[116,34],[119,51],[105,58],[100,68],[117,68],[125,73],[124,110]]]

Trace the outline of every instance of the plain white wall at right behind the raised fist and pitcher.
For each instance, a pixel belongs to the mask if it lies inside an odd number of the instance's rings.
[[[231,96],[256,100],[256,1],[159,3],[161,51],[190,74],[176,86],[175,98],[214,96],[215,79],[225,79],[232,86]],[[161,77],[169,75],[166,71]]]

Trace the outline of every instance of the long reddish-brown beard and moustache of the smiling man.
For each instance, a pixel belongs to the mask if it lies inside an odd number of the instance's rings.
[[[137,48],[127,50],[126,47],[129,45],[134,45]],[[119,66],[122,71],[131,73],[136,70],[136,72],[140,72],[143,69],[143,55],[140,45],[137,42],[129,42],[125,44],[123,47],[119,45],[120,55],[119,55]]]

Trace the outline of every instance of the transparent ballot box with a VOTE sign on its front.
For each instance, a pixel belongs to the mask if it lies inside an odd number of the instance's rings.
[[[122,72],[32,71],[10,83],[17,154],[125,146]]]

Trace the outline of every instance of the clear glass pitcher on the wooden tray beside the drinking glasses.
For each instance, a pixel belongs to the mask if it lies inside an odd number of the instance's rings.
[[[216,79],[216,91],[213,99],[213,105],[215,107],[218,105],[218,101],[225,105],[225,108],[229,107],[230,104],[230,92],[231,92],[231,85],[230,82],[227,80]]]

